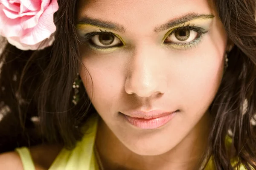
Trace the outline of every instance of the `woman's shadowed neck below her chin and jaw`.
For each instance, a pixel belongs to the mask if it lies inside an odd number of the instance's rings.
[[[207,148],[209,128],[210,115],[207,112],[183,141],[172,150],[157,156],[141,156],[125,147],[100,118],[96,135],[96,147],[105,169],[199,169],[200,160]]]

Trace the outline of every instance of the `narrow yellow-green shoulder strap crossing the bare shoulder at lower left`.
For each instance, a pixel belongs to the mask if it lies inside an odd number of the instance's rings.
[[[16,148],[15,151],[20,155],[24,170],[35,170],[35,165],[27,147]]]

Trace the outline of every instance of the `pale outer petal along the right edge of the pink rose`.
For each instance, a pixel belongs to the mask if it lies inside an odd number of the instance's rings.
[[[53,14],[58,10],[57,0],[52,0],[52,3],[47,7],[44,13],[38,20],[38,24],[32,28],[32,31],[25,30],[26,34],[20,37],[20,42],[33,45],[49,38],[56,31],[56,26],[53,22]]]

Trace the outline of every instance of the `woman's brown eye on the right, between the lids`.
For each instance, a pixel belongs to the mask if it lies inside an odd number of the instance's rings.
[[[164,40],[165,43],[175,43],[175,44],[184,44],[194,41],[198,38],[198,32],[192,31],[189,29],[179,29],[173,31],[167,38]]]

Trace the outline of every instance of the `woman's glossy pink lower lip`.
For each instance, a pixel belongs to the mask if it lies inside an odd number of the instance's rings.
[[[157,117],[153,119],[135,118],[127,115],[124,115],[124,116],[129,123],[131,123],[136,127],[139,127],[140,129],[155,129],[165,125],[167,122],[169,122],[172,119],[174,115],[175,115],[175,112],[170,113],[166,116]]]

